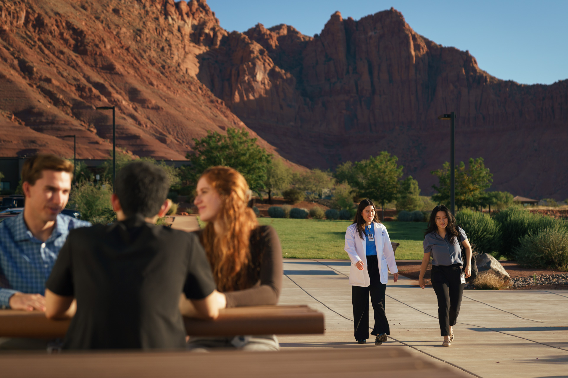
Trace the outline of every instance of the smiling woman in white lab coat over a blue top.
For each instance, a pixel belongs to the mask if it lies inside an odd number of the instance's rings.
[[[369,294],[373,304],[375,345],[381,345],[390,334],[385,312],[385,290],[390,269],[398,281],[389,233],[379,221],[375,204],[364,199],[359,204],[353,224],[345,232],[345,252],[351,260],[349,284],[353,302],[355,339],[365,343],[369,338]]]

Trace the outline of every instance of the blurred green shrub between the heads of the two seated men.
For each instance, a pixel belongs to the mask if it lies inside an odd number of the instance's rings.
[[[69,207],[81,213],[81,219],[93,224],[107,224],[116,218],[110,196],[111,186],[108,184],[93,184],[88,181],[73,186]]]

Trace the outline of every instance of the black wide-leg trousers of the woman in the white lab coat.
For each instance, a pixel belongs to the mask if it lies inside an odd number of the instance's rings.
[[[375,326],[371,335],[390,334],[389,321],[385,312],[387,284],[381,283],[377,256],[367,256],[367,270],[369,270],[371,284],[367,287],[351,286],[356,340],[369,338],[369,294],[371,294],[371,303],[375,315]]]

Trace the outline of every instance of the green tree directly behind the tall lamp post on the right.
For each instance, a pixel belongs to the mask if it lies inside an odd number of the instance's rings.
[[[469,159],[469,168],[465,168],[465,164],[460,162],[456,169],[456,206],[462,207],[479,207],[480,199],[485,189],[491,186],[493,179],[489,168],[485,168],[483,158]],[[432,196],[434,201],[449,205],[450,202],[450,163],[445,162],[442,169],[431,172],[440,180],[439,185],[432,185],[438,193]]]

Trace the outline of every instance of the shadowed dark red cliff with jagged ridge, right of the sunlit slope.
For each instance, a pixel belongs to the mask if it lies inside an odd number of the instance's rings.
[[[457,159],[485,158],[492,189],[568,197],[568,80],[499,80],[394,9],[358,21],[336,12],[313,38],[258,24],[206,56],[198,78],[300,164],[333,168],[387,150],[429,193],[430,171],[449,160],[449,122],[437,116],[456,111]]]

